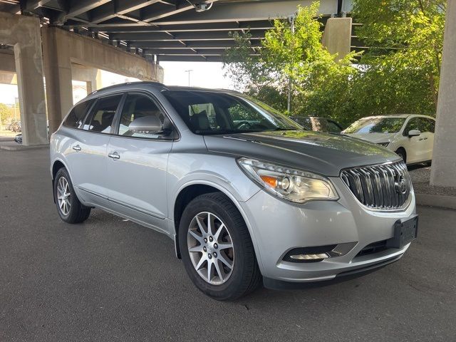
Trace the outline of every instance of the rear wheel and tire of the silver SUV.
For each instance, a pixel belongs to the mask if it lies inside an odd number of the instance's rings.
[[[61,219],[64,222],[71,224],[86,221],[90,215],[90,207],[86,207],[79,202],[79,199],[74,191],[73,184],[71,183],[70,176],[68,175],[68,171],[64,167],[57,171],[53,187],[57,212]],[[64,190],[64,193],[62,190]],[[66,203],[62,203],[59,198],[62,196],[65,197],[63,202]]]

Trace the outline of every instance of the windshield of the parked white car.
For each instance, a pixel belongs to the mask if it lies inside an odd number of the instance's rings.
[[[364,118],[352,123],[343,133],[398,133],[405,118]]]

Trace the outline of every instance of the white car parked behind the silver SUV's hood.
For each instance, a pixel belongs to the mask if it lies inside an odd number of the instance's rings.
[[[432,160],[434,130],[435,118],[401,114],[362,118],[342,133],[388,147],[407,164],[415,164]]]

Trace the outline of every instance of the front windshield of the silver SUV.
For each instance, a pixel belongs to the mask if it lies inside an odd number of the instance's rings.
[[[199,90],[164,90],[163,95],[199,135],[302,130],[269,105],[247,96]]]

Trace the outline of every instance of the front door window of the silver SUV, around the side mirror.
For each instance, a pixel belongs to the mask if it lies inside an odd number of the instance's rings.
[[[162,123],[164,123],[165,120],[169,120],[167,117],[165,117],[160,108],[157,107],[154,101],[152,101],[147,96],[140,94],[128,95],[127,100],[125,100],[125,104],[123,105],[122,115],[120,115],[118,134],[134,138],[164,138],[162,135],[132,132],[128,129],[130,123],[133,123],[133,120],[151,115],[157,116],[157,118],[159,118]]]

